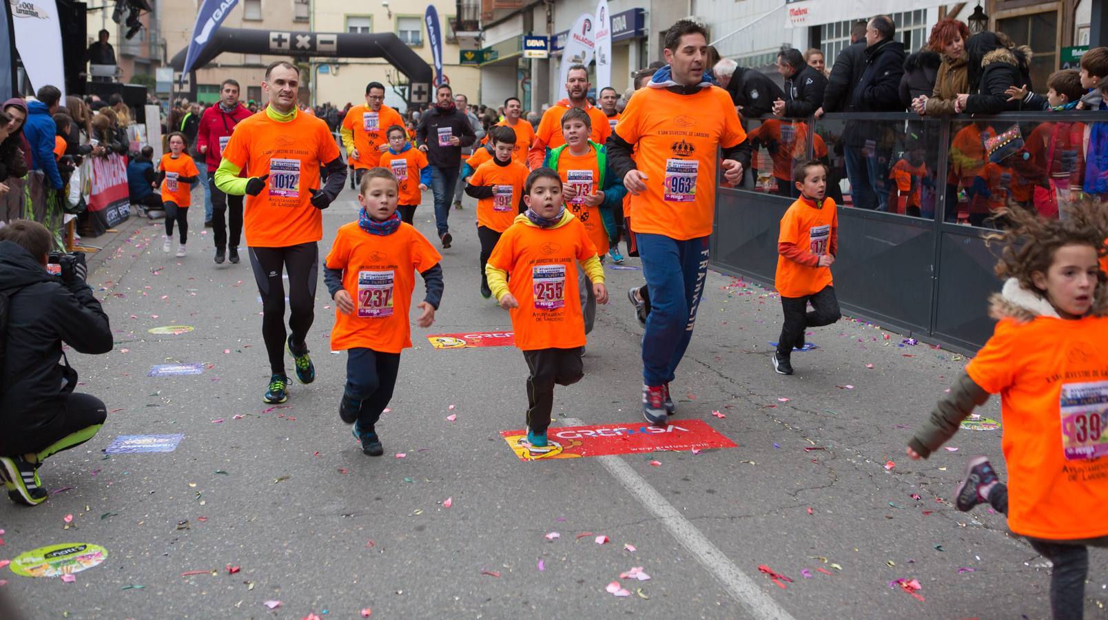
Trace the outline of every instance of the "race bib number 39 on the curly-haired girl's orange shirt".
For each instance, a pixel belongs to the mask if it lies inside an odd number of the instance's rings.
[[[1067,461],[1085,461],[1108,454],[1105,440],[1108,381],[1064,383],[1061,399],[1061,450]]]

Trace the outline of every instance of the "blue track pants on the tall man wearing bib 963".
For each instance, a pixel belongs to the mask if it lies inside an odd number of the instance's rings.
[[[637,234],[636,238],[650,291],[650,316],[643,334],[643,382],[661,385],[674,380],[693,338],[708,275],[708,237],[678,241],[665,235]]]

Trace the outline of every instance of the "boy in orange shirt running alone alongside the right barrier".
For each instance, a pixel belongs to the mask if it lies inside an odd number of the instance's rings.
[[[773,370],[792,374],[789,356],[804,345],[804,330],[839,320],[839,301],[831,281],[831,265],[839,250],[839,213],[827,197],[828,168],[819,159],[797,166],[792,180],[800,192],[781,218],[777,238],[777,275],[784,321],[773,353]],[[806,312],[808,302],[812,311]]]

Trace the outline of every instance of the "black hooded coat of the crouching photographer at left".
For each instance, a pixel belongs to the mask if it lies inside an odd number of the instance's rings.
[[[0,241],[0,290],[11,300],[0,371],[0,454],[41,451],[62,436],[62,403],[76,386],[76,372],[59,363],[63,341],[81,353],[112,350],[107,314],[92,289],[80,279],[63,285],[39,260]]]

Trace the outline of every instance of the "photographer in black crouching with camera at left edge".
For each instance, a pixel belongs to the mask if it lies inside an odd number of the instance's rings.
[[[85,283],[84,255],[47,271],[53,238],[21,219],[0,228],[0,292],[10,302],[0,369],[0,479],[14,502],[45,502],[39,466],[48,456],[91,440],[107,418],[104,403],[73,392],[76,371],[62,341],[81,353],[112,350],[107,314]]]

